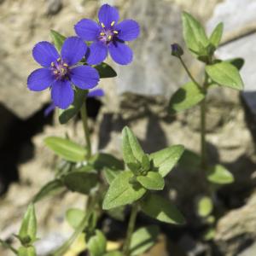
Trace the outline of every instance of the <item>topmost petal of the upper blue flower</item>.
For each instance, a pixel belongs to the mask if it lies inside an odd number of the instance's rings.
[[[119,20],[119,11],[109,4],[103,4],[99,10],[98,18],[100,23],[110,27],[112,22],[117,23]]]

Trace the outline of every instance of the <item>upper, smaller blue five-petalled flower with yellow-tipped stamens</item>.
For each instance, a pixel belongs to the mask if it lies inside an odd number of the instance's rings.
[[[108,4],[102,5],[98,13],[99,23],[83,19],[75,26],[75,32],[80,38],[92,41],[87,62],[96,65],[104,61],[109,54],[113,61],[126,65],[132,61],[131,48],[125,41],[136,39],[140,27],[135,20],[119,21],[119,12]]]

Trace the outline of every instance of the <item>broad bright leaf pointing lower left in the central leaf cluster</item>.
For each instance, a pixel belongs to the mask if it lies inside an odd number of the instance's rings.
[[[146,189],[139,183],[130,183],[131,177],[133,173],[125,171],[113,180],[103,201],[104,210],[131,204],[145,194]]]

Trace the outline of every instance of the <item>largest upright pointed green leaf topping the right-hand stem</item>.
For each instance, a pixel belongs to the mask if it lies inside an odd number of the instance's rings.
[[[193,52],[201,53],[209,44],[204,28],[198,20],[186,12],[183,12],[182,20],[183,38],[187,47]]]

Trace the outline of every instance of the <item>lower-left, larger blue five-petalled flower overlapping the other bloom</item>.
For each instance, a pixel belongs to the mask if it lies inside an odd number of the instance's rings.
[[[99,82],[95,68],[76,65],[84,57],[87,46],[81,38],[71,37],[64,41],[61,55],[49,42],[35,45],[32,55],[42,68],[33,71],[28,79],[30,90],[51,89],[51,98],[58,108],[68,108],[73,103],[73,84],[82,90],[94,88]]]

